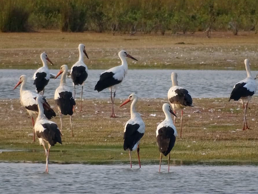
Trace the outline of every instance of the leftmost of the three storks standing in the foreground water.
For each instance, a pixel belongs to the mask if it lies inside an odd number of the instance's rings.
[[[44,115],[43,107],[50,109],[49,104],[45,102],[45,99],[42,96],[38,96],[36,100],[38,104],[39,114],[34,129],[39,139],[40,145],[44,147],[44,151],[46,154],[46,172],[48,172],[48,159],[50,147],[54,146],[56,142],[62,144],[62,139],[61,133],[56,123],[47,120],[47,118]],[[48,150],[46,149],[45,143],[48,144]]]

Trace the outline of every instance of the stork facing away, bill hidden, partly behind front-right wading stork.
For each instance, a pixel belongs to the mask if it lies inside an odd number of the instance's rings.
[[[172,72],[171,74],[172,87],[168,90],[168,100],[174,110],[181,109],[181,129],[180,129],[180,138],[182,138],[182,122],[183,122],[183,109],[186,106],[193,106],[193,99],[189,92],[178,86],[177,83],[177,73]],[[175,125],[176,118],[174,118]]]

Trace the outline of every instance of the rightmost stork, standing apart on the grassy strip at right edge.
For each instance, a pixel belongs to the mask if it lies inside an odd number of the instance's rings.
[[[243,105],[243,112],[244,112],[244,123],[243,123],[243,130],[245,129],[250,129],[247,126],[247,121],[246,121],[246,111],[247,111],[247,106],[248,106],[248,102],[251,100],[252,96],[255,94],[256,92],[256,88],[257,85],[255,83],[254,78],[252,78],[251,75],[251,70],[250,70],[250,62],[249,59],[245,59],[245,69],[246,69],[246,73],[247,73],[247,78],[245,78],[244,80],[236,83],[236,85],[234,85],[234,88],[230,94],[229,100],[231,99],[237,101],[237,100],[241,100],[242,105]],[[244,100],[246,100],[246,105],[244,106]],[[246,125],[246,128],[245,128]]]

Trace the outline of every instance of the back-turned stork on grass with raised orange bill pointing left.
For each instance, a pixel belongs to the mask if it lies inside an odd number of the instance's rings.
[[[58,107],[58,111],[60,114],[60,122],[61,122],[61,134],[62,134],[62,114],[63,115],[70,115],[70,124],[72,130],[72,114],[73,114],[73,107],[75,105],[75,101],[72,97],[72,90],[66,84],[66,74],[68,71],[67,65],[62,65],[60,71],[56,75],[55,79],[62,74],[60,85],[56,88],[55,92],[55,102]],[[74,136],[72,131],[72,137]]]

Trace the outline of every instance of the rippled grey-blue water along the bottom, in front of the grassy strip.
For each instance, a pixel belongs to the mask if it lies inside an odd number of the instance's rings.
[[[252,165],[58,165],[0,163],[0,193],[257,193]]]

